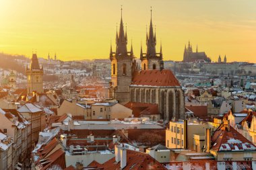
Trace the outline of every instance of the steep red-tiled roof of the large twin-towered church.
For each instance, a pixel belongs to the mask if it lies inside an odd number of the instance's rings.
[[[170,70],[146,70],[137,71],[134,74],[131,85],[177,87],[181,86],[179,81]]]

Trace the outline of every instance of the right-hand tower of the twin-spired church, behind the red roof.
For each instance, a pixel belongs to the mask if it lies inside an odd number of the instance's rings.
[[[141,46],[141,70],[162,70],[164,69],[162,61],[162,44],[160,47],[160,52],[156,52],[156,30],[154,33],[153,24],[152,24],[152,9],[151,9],[151,18],[150,18],[150,29],[149,33],[146,33],[146,45],[147,52],[143,53]]]

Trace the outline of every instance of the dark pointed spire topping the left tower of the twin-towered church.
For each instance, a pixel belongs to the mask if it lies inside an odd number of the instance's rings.
[[[117,36],[117,56],[127,56],[127,34],[123,29],[123,7],[121,6],[121,22],[119,35]]]

